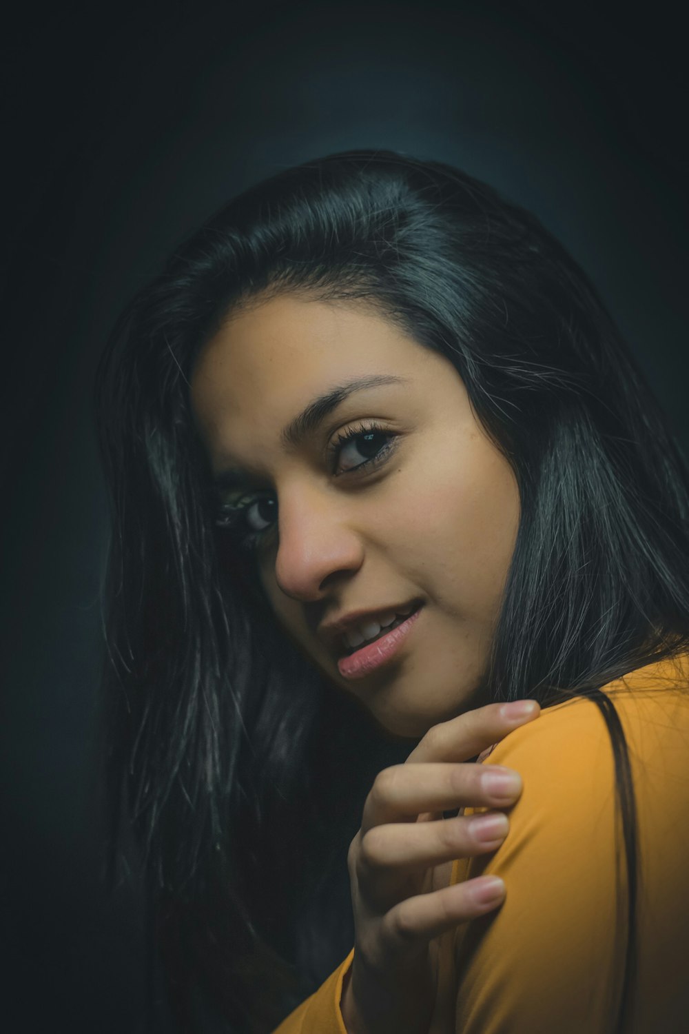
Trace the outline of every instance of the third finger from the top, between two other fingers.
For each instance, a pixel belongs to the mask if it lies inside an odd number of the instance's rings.
[[[387,879],[390,869],[401,874],[484,854],[496,850],[508,831],[509,819],[503,812],[374,826],[359,841],[357,878],[359,883],[370,884],[378,877]]]

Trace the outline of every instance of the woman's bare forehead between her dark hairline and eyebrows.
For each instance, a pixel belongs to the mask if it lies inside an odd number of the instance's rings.
[[[201,349],[191,402],[205,437],[229,447],[275,435],[313,398],[353,376],[421,373],[431,354],[356,303],[285,295],[233,312]]]

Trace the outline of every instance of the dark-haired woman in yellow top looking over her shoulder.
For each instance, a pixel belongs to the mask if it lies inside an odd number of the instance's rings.
[[[689,472],[537,220],[289,169],[97,387],[113,815],[180,1029],[680,1030]]]

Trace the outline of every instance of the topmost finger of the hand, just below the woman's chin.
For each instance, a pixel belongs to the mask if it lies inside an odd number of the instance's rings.
[[[514,700],[506,704],[486,704],[432,726],[414,748],[409,762],[467,761],[497,743],[521,725],[540,713],[536,700]]]

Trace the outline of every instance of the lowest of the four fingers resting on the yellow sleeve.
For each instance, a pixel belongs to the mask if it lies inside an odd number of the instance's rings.
[[[504,899],[505,885],[497,876],[479,876],[433,893],[407,898],[381,920],[383,950],[390,961],[414,956],[434,937],[491,912]]]

